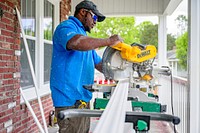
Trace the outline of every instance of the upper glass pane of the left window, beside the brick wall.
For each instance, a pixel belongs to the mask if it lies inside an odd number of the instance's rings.
[[[35,36],[35,0],[21,0],[21,19],[25,34]]]

